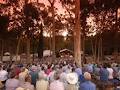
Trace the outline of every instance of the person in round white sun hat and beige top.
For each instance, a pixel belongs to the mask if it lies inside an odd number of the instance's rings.
[[[66,90],[78,90],[78,75],[75,73],[75,69],[72,68],[72,72],[66,76]]]

